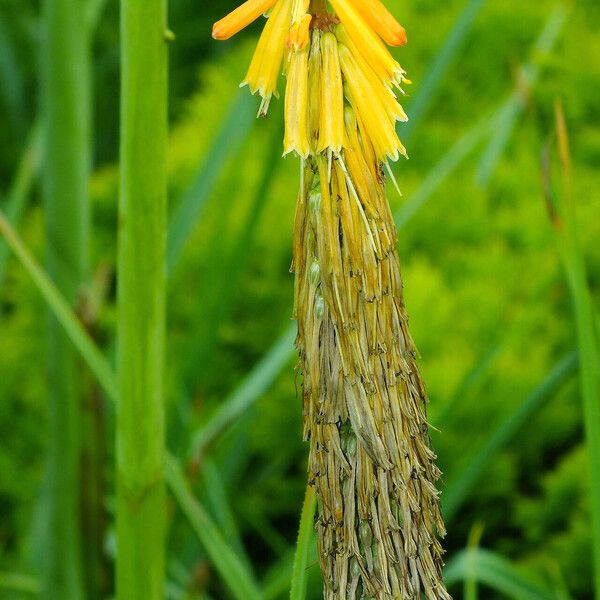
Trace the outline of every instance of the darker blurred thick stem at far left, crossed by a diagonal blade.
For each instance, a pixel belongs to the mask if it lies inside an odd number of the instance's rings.
[[[89,87],[80,0],[44,3],[44,201],[48,271],[75,306],[88,269]],[[42,597],[82,598],[77,353],[50,317],[48,527]]]

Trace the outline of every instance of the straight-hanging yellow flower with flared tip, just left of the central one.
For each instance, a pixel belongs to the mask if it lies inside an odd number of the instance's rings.
[[[308,142],[308,46],[290,52],[290,64],[285,90],[284,156],[296,151],[306,158]]]

